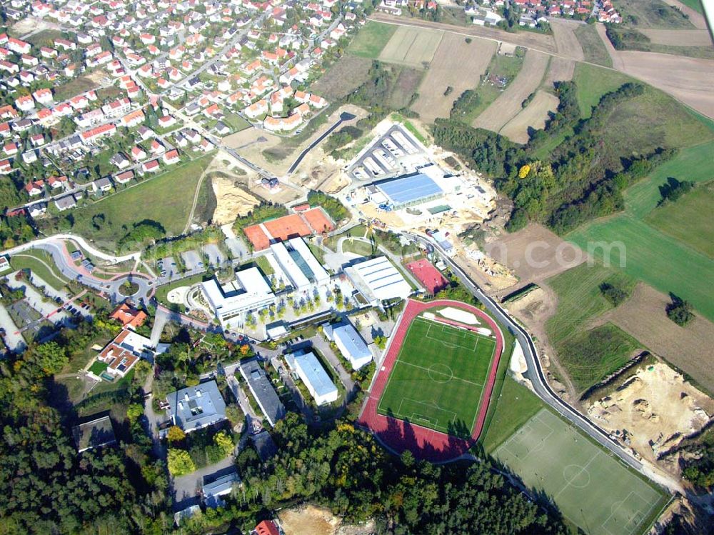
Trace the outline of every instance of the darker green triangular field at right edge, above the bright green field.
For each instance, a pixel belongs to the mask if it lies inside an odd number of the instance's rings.
[[[714,182],[700,184],[678,201],[655,208],[645,222],[714,259]]]

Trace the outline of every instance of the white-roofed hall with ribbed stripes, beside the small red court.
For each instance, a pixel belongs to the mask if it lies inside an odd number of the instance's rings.
[[[360,262],[345,270],[368,301],[406,299],[411,286],[386,256]]]

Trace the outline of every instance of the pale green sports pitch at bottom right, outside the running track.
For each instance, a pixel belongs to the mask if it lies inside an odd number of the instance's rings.
[[[541,409],[496,458],[590,535],[639,535],[668,497],[579,431]]]

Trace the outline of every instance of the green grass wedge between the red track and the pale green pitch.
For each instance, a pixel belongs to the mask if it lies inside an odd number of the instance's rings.
[[[508,362],[509,359],[502,360]],[[545,406],[538,396],[518,384],[510,375],[506,376],[501,395],[494,399],[493,403],[496,404],[496,411],[483,438],[483,449],[487,454],[493,453],[503,441]]]

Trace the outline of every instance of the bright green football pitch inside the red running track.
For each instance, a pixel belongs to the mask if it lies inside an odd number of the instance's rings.
[[[454,436],[470,436],[496,340],[416,318],[377,412]]]

